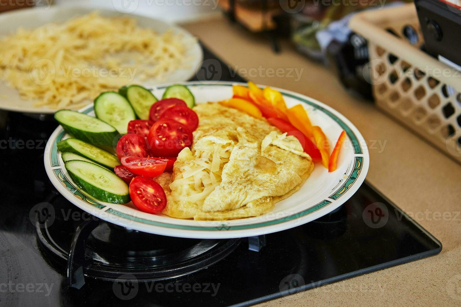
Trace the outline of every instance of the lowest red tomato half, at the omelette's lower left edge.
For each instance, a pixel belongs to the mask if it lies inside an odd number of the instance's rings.
[[[165,209],[166,195],[161,185],[150,178],[138,176],[130,183],[130,197],[137,209],[156,214]]]

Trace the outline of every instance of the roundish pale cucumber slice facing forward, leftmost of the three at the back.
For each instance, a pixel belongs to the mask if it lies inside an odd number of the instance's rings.
[[[104,92],[96,97],[95,114],[121,134],[126,133],[128,122],[136,119],[135,111],[128,100],[116,92]]]

